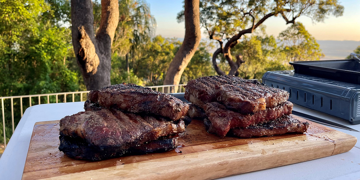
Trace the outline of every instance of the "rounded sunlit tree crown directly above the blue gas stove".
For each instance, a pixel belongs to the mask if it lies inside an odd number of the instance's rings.
[[[282,51],[287,55],[288,61],[320,60],[320,45],[303,26],[302,23],[294,23],[286,30],[279,33]]]

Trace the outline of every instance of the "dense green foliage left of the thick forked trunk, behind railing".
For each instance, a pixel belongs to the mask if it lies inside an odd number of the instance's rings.
[[[60,15],[63,10],[59,10],[62,8],[57,5],[64,5],[64,10],[69,7],[69,2],[0,1],[0,96],[80,89],[79,74],[67,67],[69,62],[66,56],[72,48],[71,32],[60,26],[60,21],[67,20]],[[54,97],[50,100],[55,101]],[[37,102],[35,98],[32,99],[33,105]],[[10,138],[11,107],[9,102],[4,103],[6,137]],[[19,100],[14,100],[15,126],[20,119],[19,103]],[[29,100],[26,102],[23,99],[23,109],[26,109],[29,103]],[[0,132],[0,137],[3,137],[2,133]],[[0,138],[0,143],[3,141],[4,139]]]

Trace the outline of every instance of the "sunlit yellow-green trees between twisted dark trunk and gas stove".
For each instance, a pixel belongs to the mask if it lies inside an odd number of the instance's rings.
[[[280,32],[278,39],[281,41],[276,42],[274,36],[260,34],[244,36],[231,49],[234,55],[242,55],[245,61],[239,67],[239,76],[258,79],[266,71],[291,69],[290,61],[319,60],[323,55],[315,38],[301,23],[295,23]],[[226,64],[225,58],[221,62]]]

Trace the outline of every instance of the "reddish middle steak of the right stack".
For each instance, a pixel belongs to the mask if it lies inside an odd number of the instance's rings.
[[[216,130],[216,134],[224,137],[228,131],[234,127],[253,126],[276,120],[284,115],[289,115],[291,114],[293,104],[287,101],[278,106],[266,108],[253,114],[241,114],[217,102],[207,103],[204,107],[206,116]]]

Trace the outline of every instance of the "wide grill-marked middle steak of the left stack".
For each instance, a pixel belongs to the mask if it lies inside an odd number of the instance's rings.
[[[184,131],[183,120],[167,121],[109,109],[79,112],[60,120],[60,135],[84,139],[97,147],[124,150]]]

